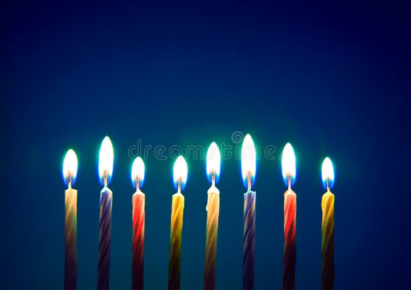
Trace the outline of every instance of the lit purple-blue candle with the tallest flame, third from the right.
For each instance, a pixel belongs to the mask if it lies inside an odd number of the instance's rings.
[[[244,194],[244,256],[242,259],[242,289],[254,289],[254,235],[255,235],[255,181],[256,152],[253,139],[247,134],[241,147],[242,182],[247,188]]]

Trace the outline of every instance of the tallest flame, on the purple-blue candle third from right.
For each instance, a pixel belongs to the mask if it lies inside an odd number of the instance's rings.
[[[248,177],[250,176],[250,185],[254,185],[255,170],[256,170],[257,154],[255,152],[254,142],[250,134],[247,134],[242,141],[241,147],[241,175],[242,183],[246,188],[248,186]]]

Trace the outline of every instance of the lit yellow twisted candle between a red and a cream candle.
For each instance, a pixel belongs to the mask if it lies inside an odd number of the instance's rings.
[[[187,163],[184,157],[179,156],[174,163],[174,187],[177,193],[173,195],[171,210],[169,289],[180,288],[181,232],[184,211],[184,196],[181,190],[184,189],[187,181],[187,173]]]

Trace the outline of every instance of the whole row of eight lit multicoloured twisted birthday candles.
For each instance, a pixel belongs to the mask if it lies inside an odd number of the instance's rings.
[[[215,142],[207,152],[207,175],[211,187],[208,190],[206,255],[204,261],[204,289],[215,288],[217,231],[220,207],[220,192],[216,184],[220,175],[220,152]],[[101,143],[99,156],[99,177],[103,189],[100,192],[99,260],[97,289],[108,289],[110,271],[111,207],[113,192],[107,187],[113,174],[114,151],[106,136]],[[284,274],[283,289],[294,289],[295,280],[295,231],[296,194],[291,189],[295,182],[294,150],[287,143],[282,155],[282,173],[288,189],[284,193]],[[254,185],[256,172],[256,152],[254,142],[246,135],[241,147],[241,175],[247,188],[244,194],[244,258],[243,289],[254,289],[254,236],[255,199]],[[180,287],[180,253],[184,211],[184,189],[188,167],[185,159],[179,156],[174,164],[174,187],[177,193],[172,198],[169,289]],[[65,191],[65,276],[64,288],[77,286],[77,190],[72,189],[77,176],[77,156],[73,150],[66,153],[63,164],[63,179],[68,189]],[[132,244],[132,289],[144,287],[144,220],[145,195],[140,188],[144,182],[144,162],[137,157],[133,162],[131,179],[136,192],[133,194],[133,244]],[[330,192],[334,183],[334,171],[327,157],[322,165],[322,180],[327,192],[322,197],[322,289],[332,289],[334,281],[334,195]]]

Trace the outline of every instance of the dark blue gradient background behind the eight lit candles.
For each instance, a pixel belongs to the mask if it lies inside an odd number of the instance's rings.
[[[130,288],[132,160],[153,148],[286,142],[297,155],[296,288],[320,288],[321,162],[337,171],[335,289],[409,284],[410,9],[406,5],[2,3],[2,284],[59,289],[62,160],[79,158],[78,288],[96,287],[98,151],[114,144],[112,289]],[[342,4],[341,4],[342,5]],[[387,4],[388,5],[388,4]],[[232,143],[231,143],[232,144]],[[5,161],[5,162],[4,162]],[[173,160],[145,160],[146,289],[164,289]],[[181,288],[201,289],[209,184],[188,160]],[[257,164],[255,287],[282,287],[281,162]],[[240,162],[223,160],[217,288],[242,285]]]

